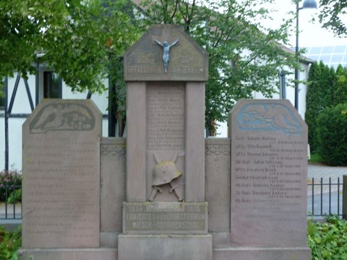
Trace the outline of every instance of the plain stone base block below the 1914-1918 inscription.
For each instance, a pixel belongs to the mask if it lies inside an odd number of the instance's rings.
[[[212,236],[119,235],[119,260],[212,260]]]

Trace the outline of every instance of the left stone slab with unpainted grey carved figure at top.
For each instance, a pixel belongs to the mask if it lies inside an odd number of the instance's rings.
[[[99,246],[101,115],[63,102],[45,101],[24,123],[24,248]],[[93,114],[92,128],[77,130],[81,114]]]

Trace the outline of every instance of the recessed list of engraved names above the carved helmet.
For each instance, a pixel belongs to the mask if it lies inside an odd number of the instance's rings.
[[[147,148],[184,150],[185,86],[152,83],[147,86]]]

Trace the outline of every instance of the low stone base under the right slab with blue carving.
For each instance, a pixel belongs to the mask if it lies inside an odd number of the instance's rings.
[[[311,260],[310,248],[214,248],[213,260]]]

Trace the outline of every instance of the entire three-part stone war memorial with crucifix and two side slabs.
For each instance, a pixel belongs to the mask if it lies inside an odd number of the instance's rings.
[[[23,125],[22,259],[292,260],[306,245],[307,126],[289,101],[242,100],[205,139],[208,53],[151,28],[124,55],[127,137],[88,100]]]

